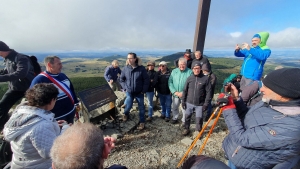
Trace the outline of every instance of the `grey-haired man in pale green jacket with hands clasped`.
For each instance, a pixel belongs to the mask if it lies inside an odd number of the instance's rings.
[[[186,67],[186,59],[179,58],[178,68],[174,69],[168,81],[169,89],[173,95],[172,97],[172,124],[177,123],[179,116],[179,106],[182,99],[182,91],[185,85],[186,79],[193,73],[191,69]],[[182,109],[182,124],[185,122],[185,110]]]

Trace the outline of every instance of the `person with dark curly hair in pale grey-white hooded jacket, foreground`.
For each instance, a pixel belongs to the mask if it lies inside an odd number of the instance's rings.
[[[21,103],[5,124],[4,138],[13,152],[11,168],[51,167],[50,149],[61,133],[60,126],[65,124],[64,120],[56,121],[50,111],[57,95],[58,89],[53,84],[35,85],[26,91],[28,101]]]

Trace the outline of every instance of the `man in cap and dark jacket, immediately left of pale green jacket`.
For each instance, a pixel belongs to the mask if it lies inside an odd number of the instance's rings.
[[[169,122],[171,117],[172,93],[168,86],[168,80],[171,76],[171,71],[168,69],[167,62],[165,61],[159,63],[159,68],[157,72],[156,90],[162,109],[160,117],[165,119],[166,122]]]

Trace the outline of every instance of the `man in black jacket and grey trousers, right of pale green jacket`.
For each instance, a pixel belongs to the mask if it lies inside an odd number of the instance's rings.
[[[201,73],[200,63],[192,64],[193,75],[187,78],[182,94],[182,108],[185,109],[183,135],[189,134],[193,111],[196,112],[196,132],[202,129],[202,112],[211,101],[211,83],[207,76]]]

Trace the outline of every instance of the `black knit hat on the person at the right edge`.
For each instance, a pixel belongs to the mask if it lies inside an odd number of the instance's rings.
[[[264,78],[263,85],[280,96],[299,99],[300,98],[300,69],[283,68],[274,70]]]

